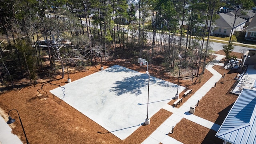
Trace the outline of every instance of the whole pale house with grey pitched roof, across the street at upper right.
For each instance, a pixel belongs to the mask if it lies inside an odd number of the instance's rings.
[[[230,16],[228,14],[220,13],[218,14],[220,18],[215,20],[214,29],[212,31],[212,35],[220,35],[220,36],[230,36],[232,32],[232,27],[234,24],[234,16]],[[245,26],[246,20],[242,18],[237,18],[234,24],[233,33],[235,31],[242,31]]]

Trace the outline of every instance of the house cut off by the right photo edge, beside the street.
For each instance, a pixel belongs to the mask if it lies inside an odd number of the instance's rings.
[[[246,34],[244,36],[245,40],[255,41],[256,42],[256,18],[252,19],[249,26],[246,29]]]

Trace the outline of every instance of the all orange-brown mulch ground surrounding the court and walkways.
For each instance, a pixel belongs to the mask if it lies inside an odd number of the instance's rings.
[[[240,53],[238,53],[240,54]],[[104,68],[118,64],[132,70],[145,72],[145,66],[132,64],[130,60],[118,59],[114,62],[108,62]],[[195,115],[221,124],[228,110],[236,100],[237,96],[228,94],[230,87],[234,83],[233,78],[235,72],[230,72],[214,66],[214,69],[220,74],[226,73],[215,88],[212,88],[206,96],[204,96],[196,107]],[[72,81],[88,76],[100,70],[100,65],[87,68],[83,72],[74,72],[69,74]],[[170,78],[168,73],[164,72],[161,66],[152,65],[149,68],[152,76],[177,83],[178,78]],[[193,84],[191,78],[181,78],[180,85],[187,89],[193,89],[192,94],[196,92],[212,74],[206,70],[203,76],[200,76],[196,84]],[[49,91],[66,84],[67,75],[64,79],[58,76],[54,80],[38,80],[38,84],[22,85],[14,90],[9,90],[0,94],[0,114],[4,119],[8,120],[8,111],[16,108],[19,111],[22,123],[30,144],[140,144],[143,142],[160,124],[162,124],[172,113],[161,109],[152,118],[150,125],[140,126],[133,134],[125,140],[120,140],[100,125],[90,120],[88,117],[80,113],[78,110],[69,106]],[[186,91],[186,90],[184,90]],[[181,94],[183,94],[182,92]],[[184,102],[192,96],[184,98]],[[169,104],[172,104],[172,100]],[[179,105],[178,105],[179,108]],[[15,112],[11,112],[12,118],[18,121]],[[22,128],[19,122],[11,124],[13,133],[18,135],[22,142],[26,142]],[[216,132],[204,128],[198,124],[182,119],[174,130],[173,134],[169,134],[173,138],[183,142],[184,144],[209,144],[212,142],[220,143],[215,137]]]

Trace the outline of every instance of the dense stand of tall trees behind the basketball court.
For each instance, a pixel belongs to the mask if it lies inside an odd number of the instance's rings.
[[[149,64],[157,57],[175,72],[178,54],[182,67],[198,76],[211,50],[208,26],[218,9],[230,4],[248,9],[255,0],[139,0],[136,5],[132,0],[2,0],[0,77],[5,85],[22,78],[36,83],[56,74],[64,78],[68,67],[106,64],[120,56]]]

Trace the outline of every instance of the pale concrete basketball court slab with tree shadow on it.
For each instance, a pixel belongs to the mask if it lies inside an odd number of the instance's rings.
[[[170,102],[177,92],[177,84],[152,76],[149,85],[148,118]],[[178,93],[184,89],[179,86]],[[115,65],[50,92],[121,140],[130,136],[146,119],[146,72]]]

